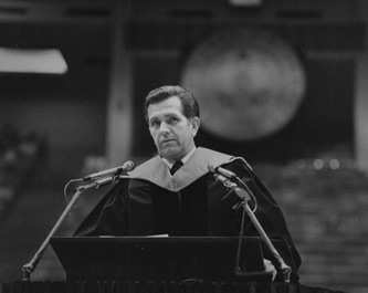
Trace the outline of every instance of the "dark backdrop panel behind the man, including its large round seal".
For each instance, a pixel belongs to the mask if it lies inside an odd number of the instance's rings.
[[[257,27],[211,30],[177,54],[159,52],[133,56],[134,156],[155,153],[143,102],[165,84],[183,85],[199,100],[200,146],[250,160],[351,153],[353,56],[308,55]]]

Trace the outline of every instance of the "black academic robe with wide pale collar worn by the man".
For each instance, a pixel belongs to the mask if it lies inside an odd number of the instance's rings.
[[[241,199],[215,181],[209,163],[235,172],[252,190],[255,217],[270,239],[285,241],[287,251],[280,253],[293,269],[292,281],[297,281],[301,258],[276,201],[244,159],[207,148],[197,148],[174,176],[158,156],[138,166],[102,199],[75,236],[239,236],[242,208],[236,203]],[[254,208],[254,200],[249,205]],[[259,237],[248,217],[244,236]]]

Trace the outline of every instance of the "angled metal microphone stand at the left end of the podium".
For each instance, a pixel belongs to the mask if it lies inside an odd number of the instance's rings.
[[[59,220],[56,221],[56,223],[54,224],[54,227],[52,228],[52,230],[50,231],[50,233],[48,234],[48,237],[45,238],[45,240],[43,241],[43,243],[39,248],[39,250],[35,252],[34,257],[30,260],[30,262],[25,263],[22,266],[23,281],[30,281],[31,273],[34,271],[34,269],[36,268],[40,259],[42,258],[43,253],[45,252],[45,250],[46,250],[46,248],[50,243],[50,239],[55,234],[55,232],[59,230],[61,224],[65,221],[70,211],[77,203],[77,200],[80,199],[82,193],[87,189],[99,188],[101,186],[104,186],[106,184],[115,182],[118,179],[118,177],[119,176],[109,176],[109,177],[106,177],[106,178],[101,178],[101,179],[97,179],[97,180],[95,180],[95,181],[93,181],[88,185],[80,186],[80,187],[76,188],[76,191],[75,191],[73,198],[67,203],[65,210],[63,211],[63,213],[61,214],[61,217],[59,218]]]

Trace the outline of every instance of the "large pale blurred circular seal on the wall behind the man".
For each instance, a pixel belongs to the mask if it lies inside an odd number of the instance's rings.
[[[283,128],[306,87],[294,50],[264,30],[223,30],[186,61],[182,86],[201,106],[201,124],[229,140],[249,142]]]

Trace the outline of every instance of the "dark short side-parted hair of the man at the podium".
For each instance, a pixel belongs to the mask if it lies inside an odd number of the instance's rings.
[[[153,90],[146,96],[144,103],[145,118],[148,123],[148,106],[160,103],[171,96],[178,96],[181,101],[182,114],[187,118],[199,117],[199,105],[194,96],[179,85],[165,85]]]

